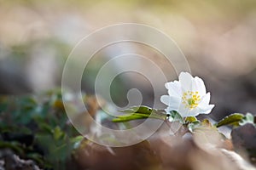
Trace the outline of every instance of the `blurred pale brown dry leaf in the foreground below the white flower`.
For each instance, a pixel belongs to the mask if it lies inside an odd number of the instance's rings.
[[[236,152],[224,149],[231,149],[232,144],[214,127],[197,129],[186,138],[162,134],[150,142],[165,170],[254,169]]]

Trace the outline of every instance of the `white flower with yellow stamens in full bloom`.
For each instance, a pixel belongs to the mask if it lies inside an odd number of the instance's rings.
[[[214,105],[209,105],[210,93],[202,79],[188,72],[181,72],[178,79],[165,84],[169,95],[161,96],[160,100],[168,105],[166,112],[177,111],[183,117],[210,113]]]

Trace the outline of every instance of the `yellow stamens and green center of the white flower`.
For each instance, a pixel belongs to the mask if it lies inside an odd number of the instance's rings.
[[[198,92],[184,92],[183,93],[183,105],[190,110],[195,109],[199,104],[201,98]]]

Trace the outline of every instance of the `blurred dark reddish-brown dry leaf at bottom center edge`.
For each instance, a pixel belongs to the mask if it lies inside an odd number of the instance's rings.
[[[127,147],[109,148],[84,139],[75,151],[74,161],[79,165],[79,169],[161,169],[160,158],[155,155],[148,141]]]

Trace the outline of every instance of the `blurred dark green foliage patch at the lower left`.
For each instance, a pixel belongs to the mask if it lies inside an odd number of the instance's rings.
[[[0,120],[0,148],[45,169],[65,169],[72,150],[84,139],[68,123],[59,89],[37,96],[0,96]]]

